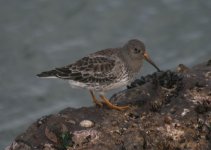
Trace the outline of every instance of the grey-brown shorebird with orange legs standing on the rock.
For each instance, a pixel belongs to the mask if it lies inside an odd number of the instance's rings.
[[[131,39],[121,47],[91,53],[75,63],[41,72],[37,76],[67,80],[72,87],[89,90],[97,106],[103,107],[105,104],[110,109],[121,111],[128,109],[129,105],[114,105],[106,98],[105,93],[127,86],[135,80],[144,60],[160,71],[149,57],[144,43],[138,39]]]

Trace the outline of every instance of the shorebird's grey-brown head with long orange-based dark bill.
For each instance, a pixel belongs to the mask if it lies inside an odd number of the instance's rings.
[[[145,59],[148,61],[151,65],[153,65],[158,71],[160,69],[155,65],[155,63],[151,60],[148,53],[146,52],[145,45],[143,42],[133,39],[128,41],[124,45],[124,50],[128,54],[131,60],[143,60]]]

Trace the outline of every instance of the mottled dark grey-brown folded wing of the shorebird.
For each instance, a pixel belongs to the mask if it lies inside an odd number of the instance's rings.
[[[43,72],[40,76],[56,76],[61,79],[83,83],[112,82],[116,78],[115,74],[113,74],[114,67],[115,59],[111,57],[89,56],[78,60],[74,64]]]

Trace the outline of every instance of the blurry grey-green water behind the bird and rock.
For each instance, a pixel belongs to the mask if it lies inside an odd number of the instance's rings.
[[[43,115],[92,105],[87,91],[37,73],[131,38],[164,70],[208,60],[211,1],[1,0],[0,149]]]

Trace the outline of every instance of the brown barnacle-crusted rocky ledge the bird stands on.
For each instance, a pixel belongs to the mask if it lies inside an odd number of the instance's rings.
[[[6,149],[211,149],[211,60],[141,77],[111,101],[131,107],[66,108],[37,120]]]

